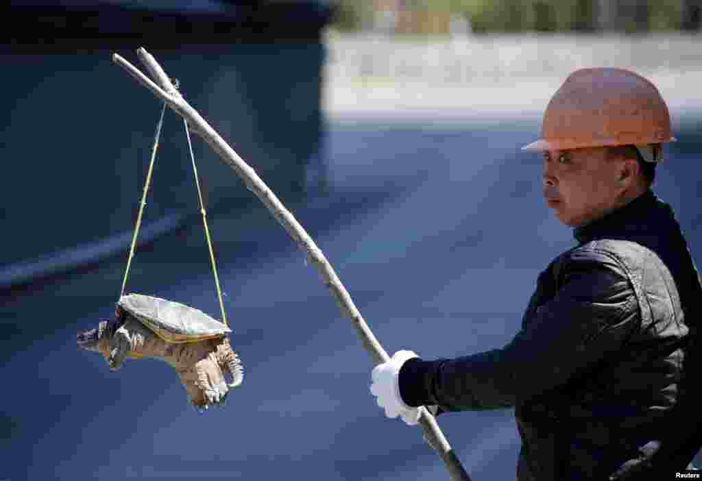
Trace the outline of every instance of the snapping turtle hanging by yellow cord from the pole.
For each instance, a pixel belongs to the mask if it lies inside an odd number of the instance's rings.
[[[143,294],[122,296],[115,317],[79,332],[79,348],[102,354],[117,371],[126,358],[157,358],[176,370],[190,402],[206,409],[221,405],[244,379],[223,323],[178,302]],[[232,381],[227,383],[225,373]]]

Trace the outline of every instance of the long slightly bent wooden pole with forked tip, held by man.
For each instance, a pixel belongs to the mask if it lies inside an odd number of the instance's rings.
[[[319,250],[317,244],[312,241],[307,231],[303,229],[303,226],[301,226],[291,212],[285,208],[263,180],[258,177],[256,171],[239,157],[234,149],[225,142],[195,109],[190,107],[190,104],[183,98],[183,95],[180,95],[180,92],[173,86],[171,80],[168,79],[168,75],[166,75],[166,72],[164,72],[164,69],[161,68],[161,65],[159,65],[156,59],[154,59],[145,48],[139,48],[137,50],[137,55],[156,83],[140,72],[139,69],[124,60],[123,57],[117,55],[117,53],[112,55],[112,61],[124,68],[134,79],[151,90],[159,99],[166,102],[168,107],[173,111],[183,116],[192,131],[202,137],[202,139],[219,154],[222,161],[229,165],[232,170],[241,177],[244,184],[246,184],[246,189],[256,194],[273,217],[275,217],[279,224],[283,226],[298,244],[300,250],[305,252],[307,261],[310,262],[310,264],[317,269],[319,275],[322,276],[324,285],[326,285],[332,297],[336,300],[342,315],[352,320],[352,326],[361,339],[363,347],[371,355],[371,358],[373,358],[373,363],[380,364],[388,361],[390,359],[388,353],[385,352],[383,346],[380,345],[378,339],[373,335],[371,328],[366,324],[366,321],[353,303],[351,296],[341,283],[341,280],[339,280],[331,264],[329,264],[329,261],[324,257],[322,250]],[[419,409],[421,412],[419,425],[424,431],[424,437],[429,442],[429,445],[436,450],[442,461],[444,461],[451,480],[470,481],[470,476],[465,469],[463,469],[461,461],[458,460],[456,453],[451,449],[451,445],[449,445],[444,433],[442,433],[441,428],[439,428],[435,417],[424,407],[420,407]]]

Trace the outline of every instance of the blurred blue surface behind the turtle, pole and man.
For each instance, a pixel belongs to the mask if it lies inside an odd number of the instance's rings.
[[[694,117],[677,130],[655,190],[699,265],[702,136]],[[519,151],[537,133],[514,118],[328,124],[326,194],[289,208],[388,352],[463,355],[517,330],[538,272],[574,243],[541,200],[541,159]],[[233,174],[232,189],[244,189]],[[0,480],[448,479],[420,430],[378,409],[350,320],[267,210],[220,204],[211,229],[246,367],[227,406],[197,414],[165,363],[115,374],[77,351],[77,330],[114,309],[123,257],[6,290]],[[140,250],[128,290],[218,316],[200,224]],[[439,419],[475,480],[514,479],[512,414]]]

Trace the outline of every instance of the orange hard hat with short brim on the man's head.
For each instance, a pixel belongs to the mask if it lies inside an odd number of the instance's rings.
[[[653,83],[625,69],[576,70],[551,97],[542,138],[522,147],[546,151],[675,142],[670,114]],[[652,147],[652,146],[651,146]]]

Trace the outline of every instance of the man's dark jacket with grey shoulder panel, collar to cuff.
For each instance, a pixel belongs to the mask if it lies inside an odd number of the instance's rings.
[[[515,407],[519,481],[668,479],[702,447],[694,262],[650,190],[574,235],[512,341],[409,360],[400,393],[442,411]]]

